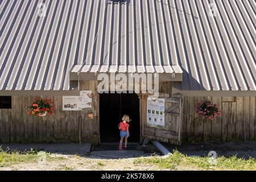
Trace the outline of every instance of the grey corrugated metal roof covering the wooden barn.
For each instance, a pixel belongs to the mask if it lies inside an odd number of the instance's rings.
[[[0,90],[68,90],[85,60],[83,72],[183,72],[184,90],[256,90],[254,0],[105,2],[0,0]]]

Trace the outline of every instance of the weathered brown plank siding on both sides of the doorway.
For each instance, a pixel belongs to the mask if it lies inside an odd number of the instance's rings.
[[[0,109],[0,142],[82,142],[98,144],[100,142],[99,100],[96,81],[82,81],[81,90],[93,92],[93,119],[86,111],[63,111],[62,96],[47,96],[55,103],[55,114],[51,117],[32,117],[27,106],[34,96],[13,96],[13,109]],[[160,82],[159,91],[169,96],[171,82]],[[216,102],[222,114],[209,121],[201,119],[195,113],[197,102],[207,97],[184,97],[183,122],[181,134],[183,140],[196,141],[232,141],[256,140],[256,98],[255,97],[210,97]],[[141,136],[146,122],[146,96],[140,96]],[[81,127],[79,127],[79,125]],[[79,130],[81,129],[81,130]]]

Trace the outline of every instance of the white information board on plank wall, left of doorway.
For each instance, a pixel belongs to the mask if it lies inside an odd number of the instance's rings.
[[[81,90],[80,96],[63,96],[63,110],[82,110],[92,108],[92,91]]]

